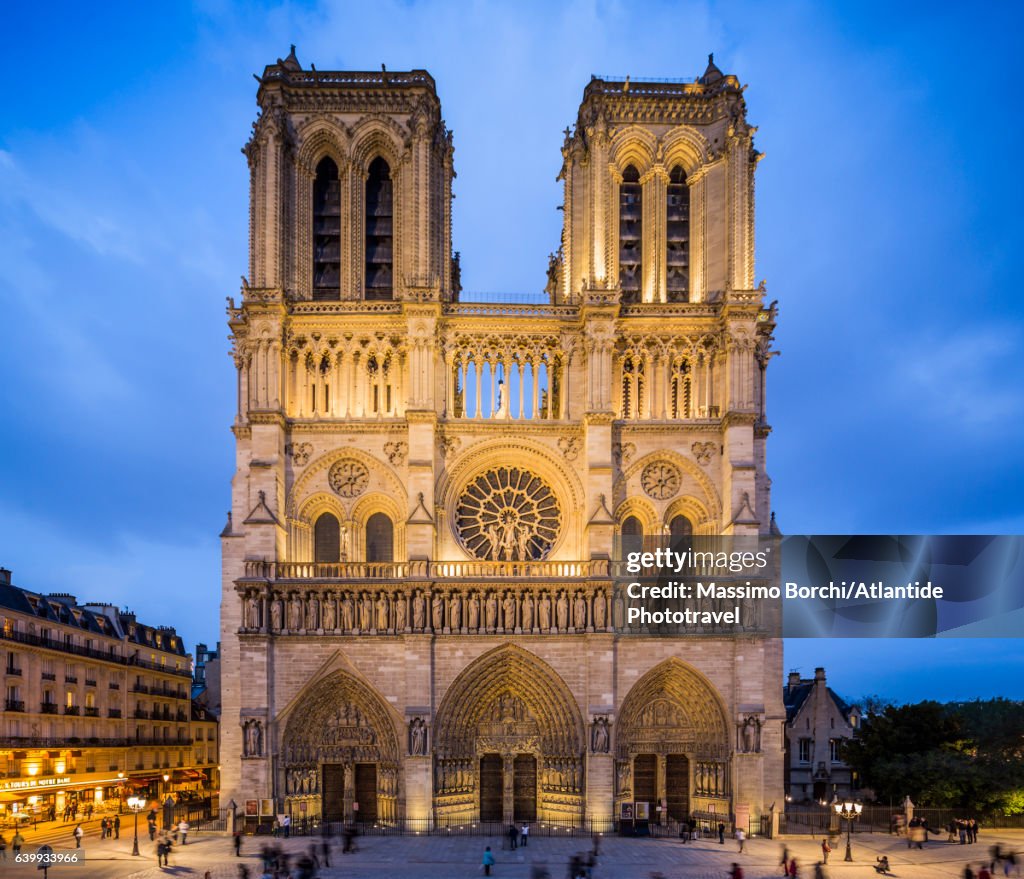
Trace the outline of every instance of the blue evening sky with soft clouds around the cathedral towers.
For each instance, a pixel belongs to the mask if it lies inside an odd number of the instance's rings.
[[[787,533],[1024,531],[1015,4],[7,4],[0,564],[216,638],[251,74],[426,68],[467,290],[544,285],[592,73],[750,84]],[[508,152],[505,146],[513,144]],[[511,157],[511,158],[510,158]],[[1024,698],[1024,641],[795,641],[848,698]]]

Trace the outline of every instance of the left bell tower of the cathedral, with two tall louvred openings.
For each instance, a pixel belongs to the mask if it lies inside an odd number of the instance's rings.
[[[263,71],[250,170],[252,287],[293,301],[447,301],[452,132],[426,71]]]

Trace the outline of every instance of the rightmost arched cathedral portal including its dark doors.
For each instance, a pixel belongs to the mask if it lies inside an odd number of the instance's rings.
[[[652,821],[728,815],[727,730],[718,694],[702,675],[677,659],[656,665],[633,685],[618,713],[616,803],[646,802]]]

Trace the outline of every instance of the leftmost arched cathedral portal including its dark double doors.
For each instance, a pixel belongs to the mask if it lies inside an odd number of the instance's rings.
[[[398,738],[384,701],[336,671],[311,684],[288,716],[276,797],[296,817],[388,822],[399,818],[398,767]]]

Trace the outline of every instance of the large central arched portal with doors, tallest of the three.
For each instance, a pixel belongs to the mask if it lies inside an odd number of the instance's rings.
[[[583,719],[532,654],[505,644],[449,687],[434,724],[439,820],[575,821],[584,813]]]

